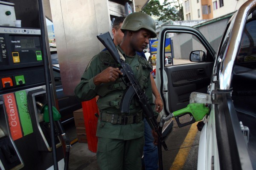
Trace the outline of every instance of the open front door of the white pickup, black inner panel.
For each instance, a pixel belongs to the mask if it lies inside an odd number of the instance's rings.
[[[166,47],[170,39],[171,52]],[[172,64],[166,62],[172,58]],[[197,28],[163,26],[160,29],[156,84],[164,102],[163,114],[186,108],[192,92],[207,93],[215,51]],[[179,127],[188,124],[180,124]]]

